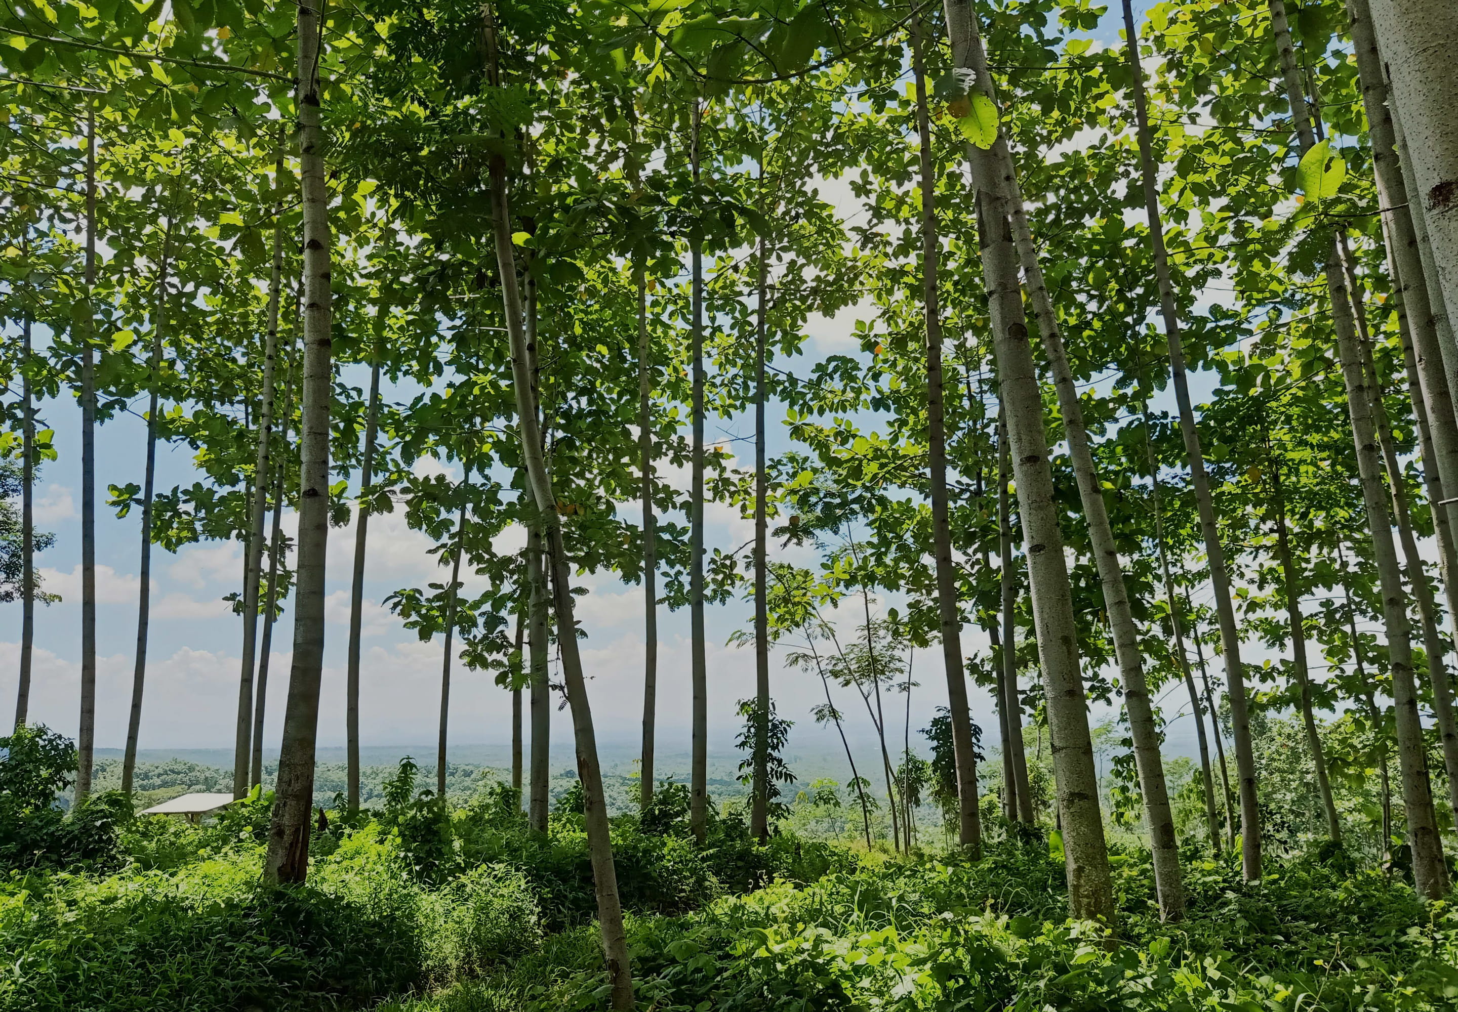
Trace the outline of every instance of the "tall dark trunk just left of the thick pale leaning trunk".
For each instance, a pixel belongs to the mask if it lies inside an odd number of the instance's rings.
[[[921,168],[921,299],[926,309],[926,427],[927,483],[932,500],[932,547],[936,556],[936,611],[946,669],[946,709],[952,720],[956,758],[956,841],[981,855],[983,822],[977,806],[977,751],[972,715],[962,668],[962,615],[958,602],[956,563],[952,560],[951,507],[946,494],[946,417],[942,376],[942,308],[937,297],[936,169],[932,160],[932,127],[927,114],[926,71],[921,61],[921,17],[911,19],[911,58],[916,74],[916,120]]]

